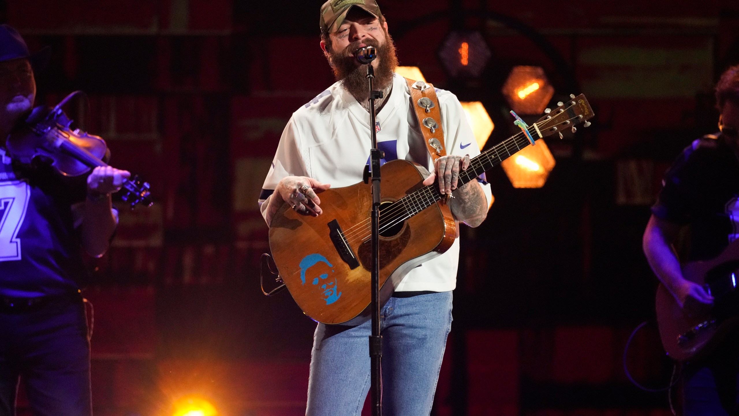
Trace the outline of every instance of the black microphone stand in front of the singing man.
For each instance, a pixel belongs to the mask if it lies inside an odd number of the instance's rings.
[[[374,59],[374,54],[372,54]],[[364,63],[364,62],[363,62]],[[369,130],[372,149],[369,150],[369,179],[372,180],[372,335],[369,336],[369,360],[372,368],[370,400],[372,416],[382,416],[382,336],[380,335],[380,159],[375,127],[375,99],[383,98],[382,91],[375,91],[375,70],[372,61],[367,63],[369,81]],[[367,181],[367,179],[365,179]]]

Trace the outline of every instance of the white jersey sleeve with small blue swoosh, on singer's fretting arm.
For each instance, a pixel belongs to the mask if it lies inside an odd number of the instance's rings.
[[[454,94],[450,93],[445,98],[446,105],[440,104],[440,110],[446,154],[469,155],[469,158],[475,158],[480,155],[480,147],[477,145],[477,139],[474,138],[472,127],[470,127],[467,120],[467,114]],[[483,192],[485,192],[489,207],[493,200],[493,194],[484,172],[477,177],[477,181],[483,186]]]

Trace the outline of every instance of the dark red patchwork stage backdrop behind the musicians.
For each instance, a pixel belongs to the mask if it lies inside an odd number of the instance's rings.
[[[495,203],[462,231],[433,415],[667,415],[667,394],[636,389],[621,364],[653,319],[641,233],[670,161],[716,129],[712,84],[739,63],[736,1],[380,1],[401,64],[486,106],[488,146],[514,132],[500,88],[515,65],[545,70],[552,103],[585,93],[596,112],[576,138],[547,139],[541,189],[488,172]],[[170,415],[187,394],[223,415],[304,414],[315,323],[287,292],[259,290],[256,199],[290,114],[333,83],[320,4],[0,1],[33,50],[53,48],[38,101],[85,90],[69,113],[151,182],[154,206],[121,205],[112,249],[90,261],[98,415]],[[482,76],[447,75],[450,30],[486,40]],[[653,387],[672,369],[653,329],[627,361]]]

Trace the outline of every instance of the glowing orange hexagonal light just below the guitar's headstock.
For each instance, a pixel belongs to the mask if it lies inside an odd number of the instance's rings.
[[[554,169],[554,156],[547,144],[539,139],[536,146],[527,146],[500,164],[514,188],[543,187]]]

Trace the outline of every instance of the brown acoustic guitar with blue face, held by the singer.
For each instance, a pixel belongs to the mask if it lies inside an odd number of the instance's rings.
[[[533,138],[590,124],[593,109],[585,95],[571,97],[527,127]],[[460,173],[457,186],[474,181],[530,143],[520,132],[482,152]],[[424,186],[411,162],[389,161],[381,175],[379,275],[384,304],[411,269],[452,246],[457,225],[437,185]],[[314,321],[355,324],[369,319],[371,192],[371,185],[363,182],[331,188],[320,194],[323,213],[318,217],[300,215],[289,204],[273,215],[270,250],[279,275]]]

